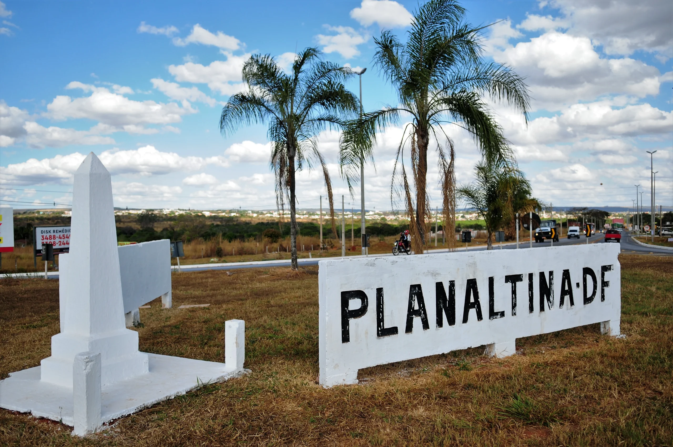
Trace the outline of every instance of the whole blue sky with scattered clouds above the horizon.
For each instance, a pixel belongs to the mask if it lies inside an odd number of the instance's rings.
[[[71,201],[72,174],[94,151],[112,172],[121,207],[273,208],[263,126],[223,138],[219,112],[244,88],[242,63],[270,53],[281,64],[318,46],[325,59],[368,67],[363,106],[396,97],[371,65],[374,36],[404,39],[418,3],[52,2],[0,3],[0,203]],[[649,203],[649,155],[657,203],[673,205],[671,88],[673,3],[466,1],[472,24],[491,24],[485,57],[526,77],[530,121],[493,104],[534,194],[557,206],[625,206],[634,184]],[[357,92],[357,80],[349,83]],[[474,144],[448,126],[458,182],[472,177]],[[365,173],[367,208],[390,209],[400,127],[387,129]],[[334,193],[339,135],[320,136]],[[433,205],[440,205],[431,160]],[[300,207],[324,195],[320,172],[299,175]],[[649,206],[649,205],[648,205]]]

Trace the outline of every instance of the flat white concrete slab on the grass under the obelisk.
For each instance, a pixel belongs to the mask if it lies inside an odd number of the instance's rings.
[[[130,415],[205,384],[224,382],[250,370],[204,360],[147,354],[149,373],[102,386],[101,423]],[[0,380],[0,407],[74,425],[73,388],[40,380],[40,367]]]

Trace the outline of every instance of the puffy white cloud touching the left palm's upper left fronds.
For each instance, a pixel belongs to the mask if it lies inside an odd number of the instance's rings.
[[[240,56],[224,54],[227,56],[226,61],[213,61],[210,65],[193,62],[170,65],[168,72],[175,77],[176,81],[205,83],[213,92],[232,95],[244,88],[241,82],[242,70],[244,63],[250,59],[250,54]]]

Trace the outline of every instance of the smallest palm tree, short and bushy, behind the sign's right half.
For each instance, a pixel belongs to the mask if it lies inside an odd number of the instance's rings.
[[[522,172],[510,166],[480,162],[474,170],[475,182],[460,186],[457,193],[484,219],[487,250],[491,250],[493,232],[503,228],[513,215],[513,192],[530,188],[530,184]]]

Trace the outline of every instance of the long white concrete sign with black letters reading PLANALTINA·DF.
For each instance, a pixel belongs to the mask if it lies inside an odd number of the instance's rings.
[[[618,335],[618,254],[590,244],[320,261],[320,384],[481,345],[505,357],[519,337],[596,322]]]

